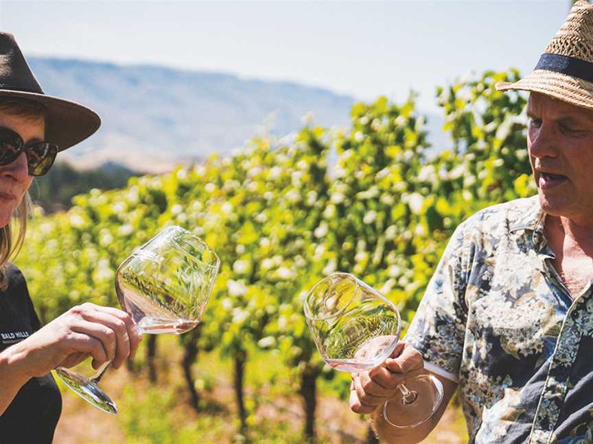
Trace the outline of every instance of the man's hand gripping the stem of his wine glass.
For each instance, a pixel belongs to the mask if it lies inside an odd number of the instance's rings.
[[[350,408],[360,414],[372,413],[395,395],[406,378],[423,373],[422,355],[406,343],[398,343],[382,365],[362,373],[353,373],[350,385]]]

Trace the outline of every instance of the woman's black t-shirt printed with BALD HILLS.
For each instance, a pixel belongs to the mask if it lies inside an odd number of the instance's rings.
[[[8,288],[0,291],[0,351],[41,327],[21,271],[10,264],[5,274]],[[61,412],[62,397],[51,374],[32,378],[0,415],[0,443],[51,443]]]

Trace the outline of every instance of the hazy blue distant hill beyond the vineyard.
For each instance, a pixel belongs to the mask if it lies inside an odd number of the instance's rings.
[[[117,162],[160,172],[178,162],[241,147],[264,125],[278,135],[298,130],[314,113],[320,125],[348,125],[354,99],[329,90],[236,75],[161,66],[29,58],[48,95],[93,108],[103,125],[65,151],[78,167]]]

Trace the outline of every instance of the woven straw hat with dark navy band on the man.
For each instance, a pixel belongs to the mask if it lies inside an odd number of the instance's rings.
[[[548,43],[533,73],[496,89],[536,91],[593,109],[593,5],[579,0]]]

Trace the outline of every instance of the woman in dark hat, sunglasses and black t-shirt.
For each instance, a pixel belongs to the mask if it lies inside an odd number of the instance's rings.
[[[11,34],[0,33],[0,442],[51,443],[61,398],[49,371],[92,356],[95,369],[133,356],[141,335],[116,308],[82,304],[41,328],[25,279],[8,262],[19,251],[33,177],[56,153],[91,136],[100,119],[43,94]],[[19,219],[19,229],[10,226]]]

